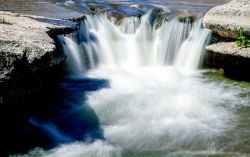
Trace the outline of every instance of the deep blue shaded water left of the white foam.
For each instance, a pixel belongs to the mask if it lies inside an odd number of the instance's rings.
[[[105,80],[67,77],[60,83],[60,107],[54,117],[43,122],[45,133],[58,143],[103,139],[97,115],[85,103],[85,95],[108,86]]]

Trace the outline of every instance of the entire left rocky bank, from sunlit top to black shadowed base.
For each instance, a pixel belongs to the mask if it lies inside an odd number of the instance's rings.
[[[0,156],[7,156],[51,146],[29,119],[47,117],[56,108],[55,93],[67,60],[57,35],[76,31],[77,21],[84,16],[49,2],[0,3],[0,134],[4,143]]]

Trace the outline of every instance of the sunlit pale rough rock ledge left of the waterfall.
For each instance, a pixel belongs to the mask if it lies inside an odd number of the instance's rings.
[[[0,12],[0,79],[14,69],[14,63],[25,57],[28,63],[55,52],[51,35],[69,33],[77,23],[40,16]]]

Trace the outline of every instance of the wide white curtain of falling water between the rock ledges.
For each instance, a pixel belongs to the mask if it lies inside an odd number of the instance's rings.
[[[149,11],[141,19],[117,21],[106,15],[88,15],[77,34],[61,37],[69,64],[74,65],[71,72],[82,73],[97,66],[159,65],[173,65],[180,72],[196,70],[210,34],[201,27],[202,20],[163,20],[156,27],[151,16]]]

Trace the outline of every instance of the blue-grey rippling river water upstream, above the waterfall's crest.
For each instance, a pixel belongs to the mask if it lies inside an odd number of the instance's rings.
[[[89,10],[88,5],[97,5],[104,10],[118,10],[125,13],[134,12],[130,7],[147,6],[147,7],[164,7],[172,12],[176,11],[193,11],[204,13],[209,8],[221,5],[229,0],[65,0],[64,4],[68,7],[75,6],[80,11]],[[74,7],[73,7],[74,8]],[[133,13],[132,13],[133,14]]]

